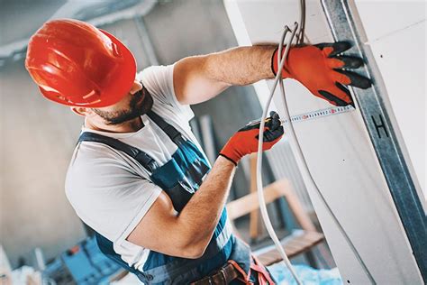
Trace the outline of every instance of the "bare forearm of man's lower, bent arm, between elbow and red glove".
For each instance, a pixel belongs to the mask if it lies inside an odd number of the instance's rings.
[[[191,243],[205,247],[212,238],[230,192],[235,166],[222,156],[177,217],[191,236]]]

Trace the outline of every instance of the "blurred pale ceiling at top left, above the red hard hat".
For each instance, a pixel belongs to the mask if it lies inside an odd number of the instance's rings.
[[[0,60],[25,50],[41,24],[73,18],[95,25],[150,11],[155,0],[0,0]]]

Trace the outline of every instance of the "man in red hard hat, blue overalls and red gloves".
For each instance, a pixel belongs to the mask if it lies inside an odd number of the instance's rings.
[[[332,105],[352,104],[343,85],[370,83],[342,70],[363,63],[338,56],[349,48],[293,47],[280,72]],[[101,251],[143,283],[274,284],[224,208],[241,157],[257,152],[259,124],[235,133],[211,167],[188,121],[189,105],[273,78],[277,56],[274,45],[240,47],[137,73],[132,52],[89,23],[54,20],[32,35],[25,67],[41,94],[85,117],[68,200]],[[283,133],[272,113],[263,149]]]

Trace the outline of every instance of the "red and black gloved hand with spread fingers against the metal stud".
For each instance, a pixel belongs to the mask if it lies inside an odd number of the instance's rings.
[[[293,47],[289,50],[282,77],[298,80],[314,96],[321,97],[334,106],[354,106],[350,91],[343,85],[366,89],[371,82],[357,73],[343,70],[358,69],[363,65],[360,58],[338,55],[350,47],[350,43],[346,41]],[[276,50],[271,61],[275,75],[278,69],[277,54]]]

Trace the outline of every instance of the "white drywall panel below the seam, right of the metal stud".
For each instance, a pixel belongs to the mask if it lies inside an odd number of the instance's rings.
[[[381,70],[388,98],[398,123],[413,170],[423,191],[425,188],[425,25],[394,32],[370,44]],[[413,37],[413,34],[423,34]],[[395,45],[396,41],[412,42]],[[405,56],[402,56],[405,54]]]

